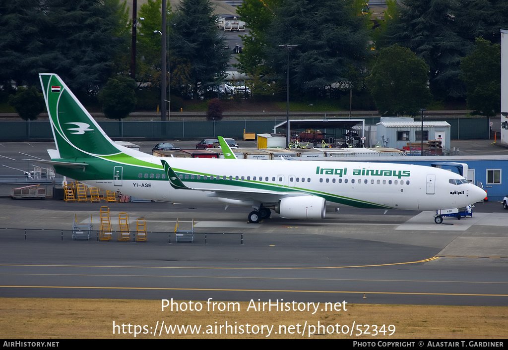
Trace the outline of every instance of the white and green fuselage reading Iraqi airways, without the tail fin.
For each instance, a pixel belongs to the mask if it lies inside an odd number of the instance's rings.
[[[84,182],[157,201],[246,206],[252,202],[273,203],[277,196],[312,195],[324,197],[327,207],[437,210],[464,207],[483,199],[485,194],[473,184],[461,183],[464,178],[458,174],[416,165],[164,159],[192,190],[174,189],[167,178],[157,178],[153,169],[143,167],[138,168],[138,179],[117,176],[114,180]],[[161,162],[161,158],[152,156],[143,157],[143,160],[152,164]]]

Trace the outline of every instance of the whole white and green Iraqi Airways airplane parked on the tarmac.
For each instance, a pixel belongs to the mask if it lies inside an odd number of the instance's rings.
[[[249,222],[271,211],[290,219],[322,219],[341,205],[438,210],[486,197],[447,170],[389,163],[161,158],[115,144],[56,74],[40,74],[61,175],[122,194],[173,203],[241,205]],[[231,153],[231,154],[229,154]]]

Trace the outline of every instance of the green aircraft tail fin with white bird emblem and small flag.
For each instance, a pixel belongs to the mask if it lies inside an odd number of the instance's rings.
[[[51,129],[61,158],[121,153],[56,74],[39,74]]]

